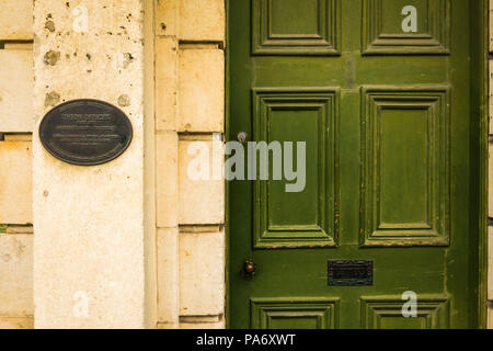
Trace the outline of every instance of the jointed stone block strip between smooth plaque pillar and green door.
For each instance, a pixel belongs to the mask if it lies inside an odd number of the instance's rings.
[[[187,168],[195,141],[222,157],[225,1],[154,4],[158,327],[223,328],[225,183]]]

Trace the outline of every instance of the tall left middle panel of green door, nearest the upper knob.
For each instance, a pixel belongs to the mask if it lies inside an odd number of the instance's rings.
[[[254,248],[335,245],[337,95],[334,89],[253,91],[254,140],[306,141],[310,155],[302,192],[286,192],[293,182],[276,180],[276,174],[268,182],[255,180]],[[296,146],[293,149],[295,156]],[[275,151],[282,161],[282,150]],[[297,163],[295,158],[295,168]]]

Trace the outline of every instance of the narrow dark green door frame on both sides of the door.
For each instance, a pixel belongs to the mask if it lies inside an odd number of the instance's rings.
[[[230,2],[238,0],[225,0],[226,4],[226,140],[231,139],[232,131],[230,131]],[[250,0],[241,0],[250,1]],[[479,194],[478,202],[471,204],[471,218],[477,217],[475,223],[471,223],[471,231],[475,231],[478,240],[478,260],[471,262],[471,268],[477,268],[479,273],[478,286],[478,326],[479,328],[488,328],[488,192],[489,192],[489,57],[490,57],[490,2],[489,0],[477,0],[470,2],[471,15],[471,66],[478,67],[471,72],[472,103],[471,115],[477,115],[471,124],[471,186]],[[452,29],[454,30],[454,29]],[[479,138],[478,138],[479,136]],[[493,174],[492,174],[493,176]],[[477,183],[473,183],[473,180]],[[226,182],[226,328],[230,327],[230,182]],[[475,215],[474,215],[475,213]],[[471,220],[472,222],[472,220]],[[474,288],[474,287],[471,287]]]

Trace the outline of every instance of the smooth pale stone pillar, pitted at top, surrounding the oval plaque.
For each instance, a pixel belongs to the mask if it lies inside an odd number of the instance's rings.
[[[77,167],[51,157],[34,133],[35,327],[146,328],[153,321],[144,227],[144,3],[81,2],[87,31],[74,27],[77,4],[35,2],[36,123],[54,92],[60,103],[92,98],[117,105],[127,95],[121,107],[134,138],[116,160]]]

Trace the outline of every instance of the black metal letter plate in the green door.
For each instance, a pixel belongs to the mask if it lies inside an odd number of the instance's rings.
[[[328,261],[328,285],[362,286],[374,284],[374,261]]]

